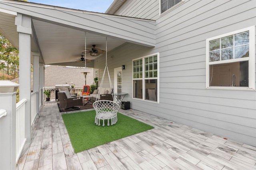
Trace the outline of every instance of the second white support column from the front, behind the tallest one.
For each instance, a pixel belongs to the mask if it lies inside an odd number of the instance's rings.
[[[39,114],[39,53],[32,53],[33,56],[33,92],[36,93],[36,113]]]

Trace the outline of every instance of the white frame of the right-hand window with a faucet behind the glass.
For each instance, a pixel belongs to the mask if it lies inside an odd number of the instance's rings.
[[[227,37],[229,35],[234,35],[236,33],[241,33],[244,31],[249,31],[249,57],[248,57],[249,59],[246,57],[246,58],[240,58],[240,59],[230,59],[230,60],[224,60],[224,61],[209,62],[209,42],[210,41],[212,41],[214,39],[219,39],[222,37]],[[209,76],[210,76],[209,75],[209,66],[211,64],[233,63],[233,62],[248,61],[248,60],[249,60],[249,68],[248,68],[249,84],[248,84],[248,87],[209,86]],[[255,25],[206,39],[206,88],[209,88],[209,89],[215,88],[215,89],[255,90]]]

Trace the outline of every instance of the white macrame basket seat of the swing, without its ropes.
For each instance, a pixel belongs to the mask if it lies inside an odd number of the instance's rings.
[[[116,124],[117,112],[120,109],[119,104],[110,100],[98,100],[92,104],[96,111],[95,122],[100,126],[100,120],[102,120],[102,126],[105,125],[104,120],[108,120],[108,126]]]

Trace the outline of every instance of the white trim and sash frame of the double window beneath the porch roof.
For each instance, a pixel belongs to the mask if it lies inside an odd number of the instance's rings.
[[[146,55],[144,57],[140,57],[140,58],[136,58],[136,59],[132,60],[132,67],[133,67],[133,61],[142,59],[142,78],[133,78],[133,71],[132,71],[132,99],[159,104],[159,54],[160,53],[154,53],[154,54]],[[156,79],[156,78],[152,77],[152,78],[145,79],[145,60],[144,59],[146,57],[150,57],[150,56],[154,56],[154,55],[157,55],[157,101],[145,99],[145,80]],[[142,80],[142,89],[143,89],[142,90],[142,99],[134,98],[134,96],[133,96],[133,80]]]

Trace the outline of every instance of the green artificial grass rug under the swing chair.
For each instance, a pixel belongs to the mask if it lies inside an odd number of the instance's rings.
[[[94,123],[95,115],[95,110],[62,115],[75,153],[154,128],[121,113],[116,124],[107,126],[105,120],[102,127],[102,120],[100,126]]]

